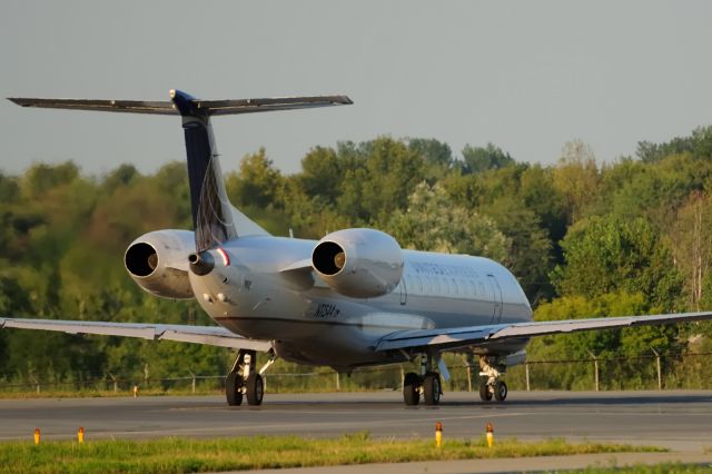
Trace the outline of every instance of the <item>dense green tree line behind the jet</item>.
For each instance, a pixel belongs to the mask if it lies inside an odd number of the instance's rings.
[[[367,226],[404,248],[487,256],[515,274],[540,320],[712,306],[712,127],[640,142],[635,156],[612,162],[581,141],[544,166],[493,144],[456,155],[435,139],[384,136],[315,147],[294,175],[264,149],[237,165],[226,175],[230,199],[275,235]],[[190,225],[182,161],[152,175],[121,165],[87,176],[71,161],[0,172],[0,315],[210,324],[192,302],[144,293],[122,265],[141,234]],[[710,336],[700,323],[547,336],[528,357],[680,354],[712,348]],[[146,364],[156,377],[217,374],[229,359],[226,349],[191,344],[0,332],[0,381],[142,374]],[[635,364],[624,371],[649,377]],[[545,376],[572,387],[577,374]]]

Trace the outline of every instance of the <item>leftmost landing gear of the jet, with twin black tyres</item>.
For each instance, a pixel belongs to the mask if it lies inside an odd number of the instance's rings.
[[[271,354],[267,364],[259,372],[256,371],[257,354],[255,350],[240,349],[230,373],[225,378],[225,396],[229,406],[243,404],[243,397],[248,405],[261,405],[265,396],[265,382],[261,374],[274,364],[277,357]]]

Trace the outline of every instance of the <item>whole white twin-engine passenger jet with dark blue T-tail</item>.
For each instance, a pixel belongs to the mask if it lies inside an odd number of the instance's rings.
[[[350,372],[419,361],[403,381],[406,405],[436,405],[442,354],[477,356],[479,396],[504,401],[501,375],[524,361],[532,336],[712,318],[712,313],[537,323],[516,278],[483,257],[404,250],[389,235],[353,228],[323,239],[274,237],[228,201],[210,118],[349,105],[345,96],[170,101],[10,99],[22,107],[179,115],[185,130],[194,231],[156,230],[126,250],[131,278],[148,293],[196,298],[218,326],[0,317],[6,328],[170,339],[231,347],[229,405],[263,402],[261,375],[277,357]],[[256,367],[256,352],[269,362]]]

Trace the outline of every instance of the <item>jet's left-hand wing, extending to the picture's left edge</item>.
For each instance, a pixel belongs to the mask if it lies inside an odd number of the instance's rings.
[[[149,340],[179,340],[182,343],[260,352],[267,352],[271,348],[269,340],[248,339],[219,326],[0,317],[0,328],[56,330],[67,334],[99,334],[105,336],[139,337]]]

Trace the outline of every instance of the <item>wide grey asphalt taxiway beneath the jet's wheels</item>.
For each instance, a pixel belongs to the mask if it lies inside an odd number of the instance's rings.
[[[0,401],[0,441],[31,438],[146,438],[296,434],[375,437],[481,436],[622,441],[701,453],[712,448],[712,392],[512,392],[504,404],[447,393],[437,407],[405,407],[394,392],[267,394],[260,407],[227,407],[224,398],[139,397]]]

